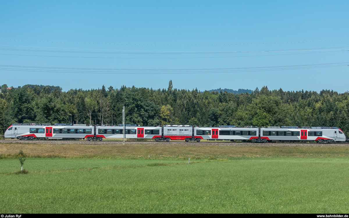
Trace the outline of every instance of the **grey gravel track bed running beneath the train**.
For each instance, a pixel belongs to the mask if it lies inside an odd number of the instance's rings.
[[[0,143],[30,143],[30,144],[83,144],[83,145],[121,145],[121,141],[19,141],[19,140],[0,140]],[[348,147],[349,143],[244,143],[244,142],[126,142],[127,145],[144,144],[144,145],[216,145],[216,146],[343,146]]]

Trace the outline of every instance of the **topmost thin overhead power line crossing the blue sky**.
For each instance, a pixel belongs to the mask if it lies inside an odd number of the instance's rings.
[[[21,40],[21,39],[0,39],[0,40],[22,41],[22,42],[42,42],[42,43],[97,44],[97,45],[258,45],[258,44],[330,42],[330,41],[342,41],[342,40],[349,40],[349,39],[332,39],[332,40],[299,41],[299,42],[272,42],[272,43],[235,43],[235,44],[123,44],[123,43],[53,42],[53,41],[36,41],[36,40]]]

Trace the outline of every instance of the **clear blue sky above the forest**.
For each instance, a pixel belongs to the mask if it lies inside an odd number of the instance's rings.
[[[345,63],[328,68],[251,69],[349,62],[348,8],[349,1],[1,1],[0,83],[59,85],[67,91],[103,84],[158,89],[167,88],[172,80],[174,88],[201,91],[254,90],[267,85],[284,91],[345,92],[349,90]],[[304,42],[321,40],[328,41]],[[37,67],[49,68],[37,72]],[[63,68],[148,71],[80,74]],[[245,68],[246,72],[224,73],[217,68]],[[198,74],[188,70],[147,74],[153,69],[201,70],[196,70]]]

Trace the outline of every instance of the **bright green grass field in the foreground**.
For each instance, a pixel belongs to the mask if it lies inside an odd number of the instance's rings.
[[[12,175],[19,161],[0,159],[1,212],[348,212],[348,157],[187,161],[28,158]]]

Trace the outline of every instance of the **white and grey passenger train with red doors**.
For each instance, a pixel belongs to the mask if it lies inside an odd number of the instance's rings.
[[[56,123],[51,125],[39,123],[14,123],[4,134],[5,138],[18,140],[56,139],[102,141],[103,138],[148,138],[156,142],[184,140],[185,142],[207,141],[250,141],[252,143],[267,142],[306,142],[336,143],[346,141],[343,131],[337,127],[239,127],[218,126],[200,127],[189,125],[164,126],[88,126]]]

